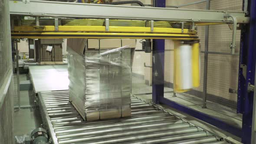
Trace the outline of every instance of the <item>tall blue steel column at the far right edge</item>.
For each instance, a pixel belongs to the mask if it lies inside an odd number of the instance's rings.
[[[240,69],[237,94],[237,113],[243,114],[241,137],[243,144],[251,143],[253,92],[248,91],[248,86],[249,83],[254,85],[256,64],[256,0],[249,0],[249,3],[250,23],[241,33]],[[243,72],[245,71],[246,75],[243,75]]]

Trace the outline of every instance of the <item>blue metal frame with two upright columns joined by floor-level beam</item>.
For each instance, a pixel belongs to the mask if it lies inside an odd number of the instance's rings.
[[[161,0],[155,0],[155,6],[160,5]],[[185,112],[195,118],[212,124],[224,131],[230,132],[242,138],[244,144],[250,144],[253,116],[253,92],[248,92],[248,83],[254,85],[256,63],[256,0],[248,0],[250,6],[250,24],[245,25],[241,32],[240,65],[247,66],[246,78],[243,77],[242,69],[239,70],[237,112],[243,114],[243,128],[237,128],[230,124],[204,114],[200,111],[180,105],[164,98],[164,40],[154,40],[153,66],[152,66],[152,101],[156,104],[165,104],[179,111]],[[158,5],[158,6],[159,6]],[[240,66],[239,65],[239,66]]]

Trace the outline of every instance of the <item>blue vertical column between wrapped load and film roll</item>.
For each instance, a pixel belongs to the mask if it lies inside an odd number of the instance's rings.
[[[165,7],[165,0],[154,0],[154,7]],[[164,39],[153,39],[152,101],[159,104],[164,97]]]

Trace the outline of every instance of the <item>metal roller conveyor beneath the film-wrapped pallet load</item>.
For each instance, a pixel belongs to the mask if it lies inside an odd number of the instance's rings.
[[[161,108],[131,97],[131,117],[84,121],[68,91],[39,92],[53,144],[228,144]]]

